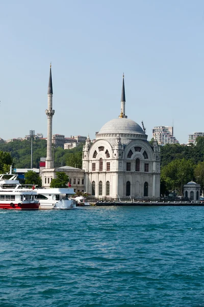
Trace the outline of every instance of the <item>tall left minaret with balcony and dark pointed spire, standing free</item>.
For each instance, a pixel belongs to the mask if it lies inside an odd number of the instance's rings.
[[[52,71],[51,63],[49,69],[49,83],[48,83],[48,107],[45,110],[47,116],[47,158],[45,162],[45,168],[54,168],[54,161],[52,155],[52,129],[53,129],[53,115],[55,110],[53,110],[53,82],[52,82]]]

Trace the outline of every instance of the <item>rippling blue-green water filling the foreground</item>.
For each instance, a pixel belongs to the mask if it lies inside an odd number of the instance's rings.
[[[204,207],[0,211],[0,306],[204,306]]]

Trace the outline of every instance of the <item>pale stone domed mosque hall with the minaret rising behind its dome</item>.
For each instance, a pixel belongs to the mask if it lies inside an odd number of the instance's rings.
[[[160,147],[125,114],[124,75],[121,113],[107,122],[83,148],[85,191],[96,198],[160,197]]]

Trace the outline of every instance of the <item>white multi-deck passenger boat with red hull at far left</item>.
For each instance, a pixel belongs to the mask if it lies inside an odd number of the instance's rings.
[[[0,209],[38,210],[37,192],[22,186],[17,180],[17,174],[0,174]]]

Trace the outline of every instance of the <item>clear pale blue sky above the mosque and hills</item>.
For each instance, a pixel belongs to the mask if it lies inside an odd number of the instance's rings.
[[[53,134],[95,137],[125,113],[174,125],[180,143],[204,132],[202,0],[10,0],[1,3],[0,137],[47,135],[49,63]]]

